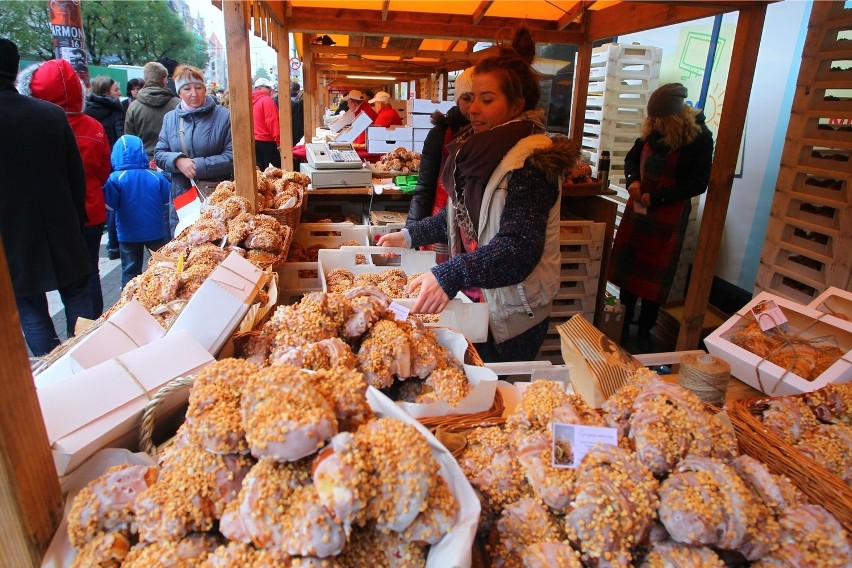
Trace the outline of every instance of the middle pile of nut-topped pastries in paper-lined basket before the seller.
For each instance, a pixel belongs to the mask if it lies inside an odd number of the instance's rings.
[[[357,369],[378,389],[404,386],[397,400],[457,406],[473,389],[462,362],[418,318],[397,320],[389,306],[375,286],[313,292],[279,306],[240,355],[261,366]]]

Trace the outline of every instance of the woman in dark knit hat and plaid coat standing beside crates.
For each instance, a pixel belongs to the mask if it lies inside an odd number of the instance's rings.
[[[639,348],[650,351],[651,328],[674,281],[691,210],[704,193],[713,162],[713,135],[700,110],[686,104],[686,87],[663,85],[648,99],[642,137],[624,160],[630,198],[612,248],[609,281],[625,306],[622,340],[636,302]]]

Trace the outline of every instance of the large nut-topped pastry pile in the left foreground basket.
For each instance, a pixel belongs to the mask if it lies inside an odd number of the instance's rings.
[[[158,467],[75,497],[74,565],[425,566],[459,504],[426,439],[377,418],[366,389],[344,367],[204,368]]]

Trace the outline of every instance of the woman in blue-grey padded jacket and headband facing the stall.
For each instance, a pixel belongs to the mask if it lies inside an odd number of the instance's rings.
[[[154,149],[157,166],[172,174],[170,234],[178,222],[174,199],[186,193],[190,180],[219,182],[234,175],[230,111],[207,95],[204,75],[195,67],[180,65],[173,77],[181,102],[163,118]]]

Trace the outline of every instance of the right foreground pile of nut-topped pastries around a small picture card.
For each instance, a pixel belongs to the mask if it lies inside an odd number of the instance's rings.
[[[603,414],[536,381],[504,428],[477,428],[459,464],[481,496],[492,566],[849,566],[842,525],[749,456],[691,392],[643,369]],[[576,469],[552,424],[609,426]]]

